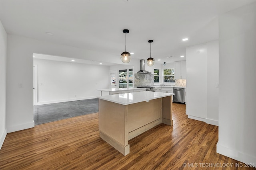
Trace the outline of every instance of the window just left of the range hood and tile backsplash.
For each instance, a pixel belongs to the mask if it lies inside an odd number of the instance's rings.
[[[132,87],[132,68],[119,70],[119,88]]]

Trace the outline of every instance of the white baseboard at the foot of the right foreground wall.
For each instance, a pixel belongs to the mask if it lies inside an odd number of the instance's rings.
[[[238,150],[230,149],[227,147],[224,147],[217,143],[217,153],[222,154],[224,156],[228,156],[232,159],[238,160],[240,162],[243,162],[245,164],[254,164],[254,167],[256,167],[256,157],[253,155],[248,155],[246,153],[242,153]],[[243,165],[244,166],[244,165]]]

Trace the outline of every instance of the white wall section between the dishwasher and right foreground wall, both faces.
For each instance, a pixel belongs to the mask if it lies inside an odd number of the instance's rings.
[[[187,48],[186,114],[218,125],[218,41]]]

